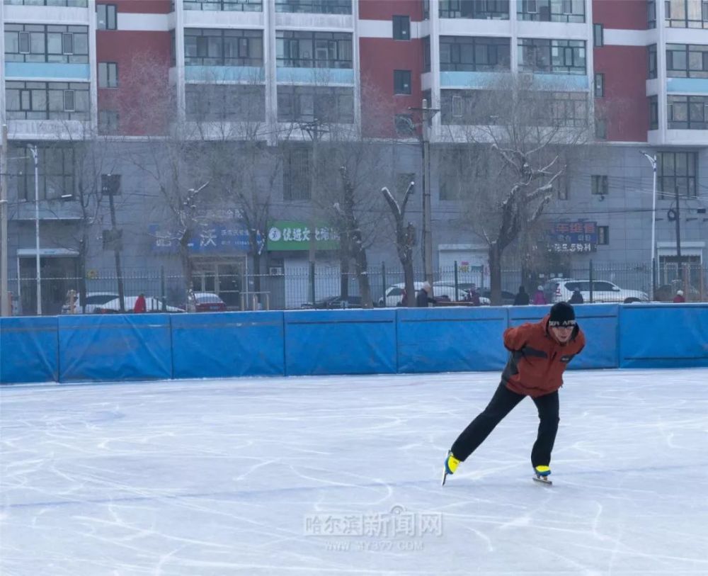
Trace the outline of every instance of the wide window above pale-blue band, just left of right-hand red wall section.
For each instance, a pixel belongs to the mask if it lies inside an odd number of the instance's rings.
[[[519,70],[551,74],[586,74],[583,40],[519,38]]]

